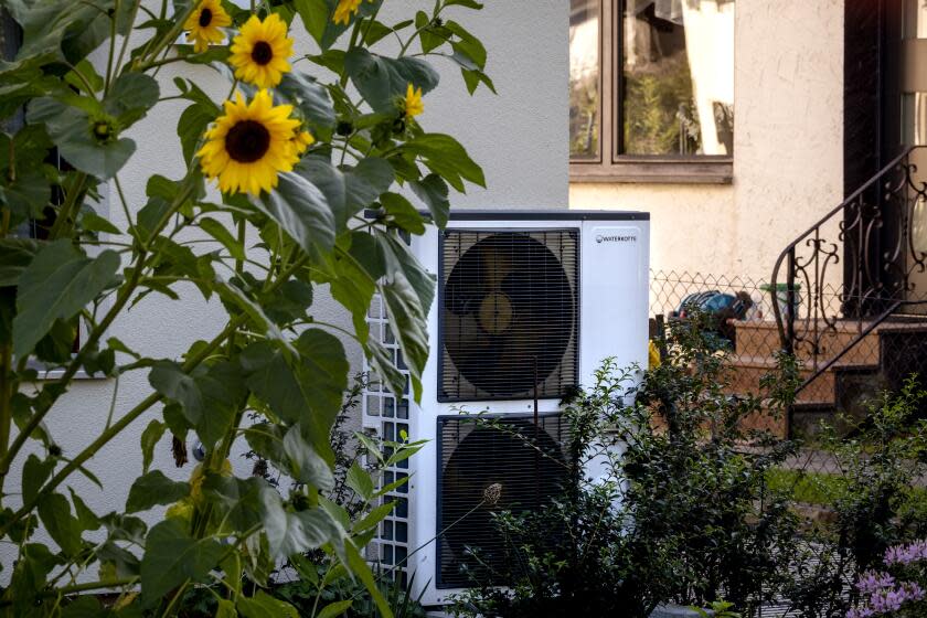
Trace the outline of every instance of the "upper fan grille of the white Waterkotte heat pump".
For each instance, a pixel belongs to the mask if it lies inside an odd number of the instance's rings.
[[[439,401],[561,397],[576,385],[577,241],[576,230],[444,233]]]

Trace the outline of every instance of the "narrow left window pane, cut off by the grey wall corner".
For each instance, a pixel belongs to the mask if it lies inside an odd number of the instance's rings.
[[[599,0],[569,3],[569,156],[599,150]]]

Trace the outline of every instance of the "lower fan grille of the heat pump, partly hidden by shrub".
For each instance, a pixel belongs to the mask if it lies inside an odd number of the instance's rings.
[[[511,561],[492,514],[534,511],[568,479],[558,414],[438,417],[438,588],[503,586]]]

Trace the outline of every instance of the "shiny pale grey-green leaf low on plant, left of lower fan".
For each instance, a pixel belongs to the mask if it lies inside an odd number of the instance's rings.
[[[270,553],[279,558],[321,547],[343,531],[322,509],[298,513],[286,511],[273,488],[262,492],[264,530]]]

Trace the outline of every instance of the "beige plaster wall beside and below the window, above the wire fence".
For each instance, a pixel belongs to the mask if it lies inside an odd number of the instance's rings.
[[[651,213],[651,266],[768,280],[843,191],[843,0],[737,0],[734,182],[572,183],[574,209]]]

